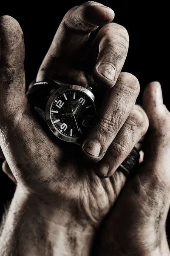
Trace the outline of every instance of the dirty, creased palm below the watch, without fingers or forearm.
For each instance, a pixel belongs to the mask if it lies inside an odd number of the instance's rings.
[[[123,184],[118,180],[122,174],[116,172],[104,180],[97,177],[95,165],[84,160],[79,145],[54,140],[45,123],[42,129],[29,110],[15,128],[15,134],[20,141],[14,137],[4,140],[11,141],[10,154],[15,162],[7,160],[18,184],[39,195],[52,194],[64,204],[71,202],[80,218],[93,225],[99,223],[119,194]]]

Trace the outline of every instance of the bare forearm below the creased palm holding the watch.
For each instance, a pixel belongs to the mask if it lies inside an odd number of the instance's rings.
[[[0,238],[2,256],[88,256],[94,230],[17,187]]]

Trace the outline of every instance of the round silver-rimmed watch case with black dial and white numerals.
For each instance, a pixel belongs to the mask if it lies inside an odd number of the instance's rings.
[[[60,87],[48,99],[45,117],[51,131],[62,140],[78,143],[96,116],[94,94],[77,85]]]

